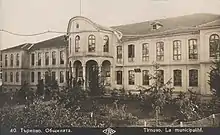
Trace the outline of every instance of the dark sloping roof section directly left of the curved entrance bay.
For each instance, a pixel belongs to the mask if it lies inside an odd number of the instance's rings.
[[[42,49],[42,48],[60,48],[60,47],[66,47],[66,45],[68,44],[68,42],[65,40],[65,36],[59,36],[59,37],[55,37],[49,40],[45,40],[42,42],[38,42],[35,43],[30,50],[38,50],[38,49]]]

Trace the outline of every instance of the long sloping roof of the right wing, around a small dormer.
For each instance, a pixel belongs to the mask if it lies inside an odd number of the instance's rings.
[[[219,20],[220,15],[215,14],[206,14],[206,13],[198,13],[198,14],[191,14],[179,17],[171,17],[153,21],[146,21],[141,23],[134,23],[134,24],[127,24],[127,25],[119,25],[113,26],[111,28],[120,31],[126,38],[126,35],[159,35],[164,34],[164,32],[170,31],[172,33],[173,30],[175,32],[182,32],[182,31],[198,31],[198,26],[202,24],[207,24],[209,22],[215,22],[215,20]],[[163,27],[155,30],[152,29],[152,23],[159,22],[163,25]],[[216,24],[220,25],[219,22],[215,22]],[[209,24],[211,25],[211,24]]]

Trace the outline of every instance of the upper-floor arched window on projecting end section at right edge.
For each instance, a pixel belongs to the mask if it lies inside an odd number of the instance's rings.
[[[220,39],[219,35],[213,34],[209,38],[209,52],[210,57],[216,57],[217,52],[220,51]]]

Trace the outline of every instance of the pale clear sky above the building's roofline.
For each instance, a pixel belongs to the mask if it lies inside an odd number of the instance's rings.
[[[81,15],[115,26],[194,13],[220,14],[220,0],[81,0]],[[19,34],[66,32],[80,15],[80,0],[0,0],[0,29]],[[0,49],[36,43],[59,34],[21,37],[0,32]]]

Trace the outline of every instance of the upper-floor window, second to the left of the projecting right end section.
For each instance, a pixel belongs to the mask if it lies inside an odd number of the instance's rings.
[[[181,60],[181,41],[173,41],[173,60]]]

